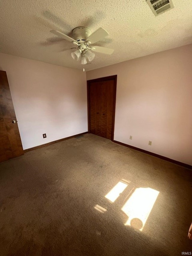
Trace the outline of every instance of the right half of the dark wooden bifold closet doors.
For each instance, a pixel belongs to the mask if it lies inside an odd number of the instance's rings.
[[[114,80],[101,82],[101,136],[112,138],[114,113]]]

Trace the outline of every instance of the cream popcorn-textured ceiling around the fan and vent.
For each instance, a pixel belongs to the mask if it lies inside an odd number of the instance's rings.
[[[109,36],[95,45],[115,49],[96,53],[85,70],[192,43],[192,1],[173,0],[174,8],[155,17],[145,0],[1,0],[0,52],[82,69],[67,50],[74,45],[58,40],[50,30],[72,36],[72,29],[99,27]]]

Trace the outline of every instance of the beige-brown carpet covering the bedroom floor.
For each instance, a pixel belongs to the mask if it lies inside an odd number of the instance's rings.
[[[137,188],[159,194],[146,223],[125,225]],[[132,208],[144,214],[151,199],[138,200]],[[191,219],[191,170],[93,134],[0,164],[0,255],[182,255],[192,251]]]

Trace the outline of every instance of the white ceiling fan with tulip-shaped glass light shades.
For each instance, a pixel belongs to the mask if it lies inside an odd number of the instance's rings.
[[[76,27],[73,29],[73,38],[65,35],[64,33],[58,30],[51,30],[53,34],[57,35],[58,37],[64,38],[67,41],[72,42],[77,47],[74,52],[71,53],[71,56],[76,61],[79,60],[81,64],[87,64],[87,60],[91,62],[95,54],[92,51],[104,54],[112,54],[113,49],[101,47],[101,46],[92,46],[91,44],[95,44],[98,41],[104,39],[107,35],[107,31],[105,29],[99,28],[94,33],[91,33],[91,30],[86,27]]]

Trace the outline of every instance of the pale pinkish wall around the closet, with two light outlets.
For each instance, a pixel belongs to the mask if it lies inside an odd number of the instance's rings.
[[[192,165],[192,44],[86,76],[116,74],[114,140]]]

